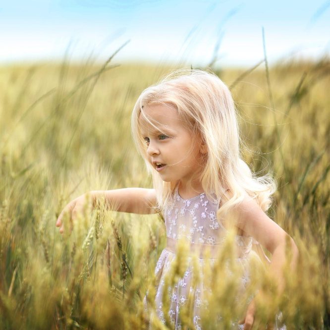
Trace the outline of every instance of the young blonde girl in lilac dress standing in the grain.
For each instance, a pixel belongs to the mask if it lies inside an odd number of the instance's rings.
[[[207,302],[201,300],[203,289],[192,286],[194,268],[190,265],[169,289],[168,315],[162,310],[163,295],[168,294],[166,272],[175,261],[181,238],[188,240],[191,250],[198,250],[200,263],[207,249],[209,258],[215,260],[230,225],[237,228],[235,260],[245,267],[252,243],[259,242],[273,255],[270,270],[281,292],[287,234],[265,214],[275,184],[270,177],[253,175],[240,158],[235,107],[223,82],[202,70],[172,73],[142,92],[132,112],[132,133],[154,188],[92,191],[88,196],[93,205],[105,197],[107,205],[120,212],[163,214],[167,244],[155,270],[158,318],[163,323],[169,319],[175,329],[181,329],[180,309],[195,290],[192,322],[195,329],[201,329],[201,305]],[[63,215],[76,217],[85,201],[82,195],[63,209],[56,222],[61,233]],[[233,214],[237,220],[230,223]],[[289,241],[294,264],[297,247],[292,238]],[[247,271],[242,282],[248,278]],[[240,322],[232,323],[233,329],[251,329],[254,315],[252,299]]]

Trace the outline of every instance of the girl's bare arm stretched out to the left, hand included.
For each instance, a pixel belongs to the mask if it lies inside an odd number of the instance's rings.
[[[63,233],[63,217],[76,219],[78,214],[82,214],[86,203],[92,208],[105,203],[108,210],[118,212],[128,212],[136,214],[156,213],[156,191],[145,188],[123,188],[115,190],[94,190],[81,195],[67,204],[56,221],[56,227],[60,227],[59,232]]]

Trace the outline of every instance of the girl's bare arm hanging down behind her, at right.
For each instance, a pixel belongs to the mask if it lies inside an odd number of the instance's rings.
[[[285,245],[288,234],[275,221],[271,220],[257,202],[250,197],[246,197],[236,210],[238,211],[237,227],[243,230],[245,235],[254,237],[272,253],[270,271],[274,275],[278,293],[281,294],[284,289],[282,268],[286,261]],[[289,236],[288,241],[292,251],[290,268],[294,271],[299,252],[292,237]]]

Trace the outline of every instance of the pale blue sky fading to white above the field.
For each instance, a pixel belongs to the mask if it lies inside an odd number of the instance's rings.
[[[3,2],[3,3],[1,3]],[[253,65],[330,53],[330,0],[30,0],[0,2],[0,62],[115,60]]]

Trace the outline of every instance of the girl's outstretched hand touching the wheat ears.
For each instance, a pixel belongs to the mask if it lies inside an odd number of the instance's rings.
[[[86,207],[89,207],[90,205],[91,205],[91,199],[86,194],[81,195],[76,199],[74,199],[73,201],[71,201],[70,203],[68,203],[64,207],[64,209],[62,210],[56,221],[56,227],[60,227],[59,232],[61,234],[64,232],[64,222],[63,222],[64,217],[67,217],[70,220],[70,231],[72,231],[73,220],[76,220],[79,215],[82,215]]]

